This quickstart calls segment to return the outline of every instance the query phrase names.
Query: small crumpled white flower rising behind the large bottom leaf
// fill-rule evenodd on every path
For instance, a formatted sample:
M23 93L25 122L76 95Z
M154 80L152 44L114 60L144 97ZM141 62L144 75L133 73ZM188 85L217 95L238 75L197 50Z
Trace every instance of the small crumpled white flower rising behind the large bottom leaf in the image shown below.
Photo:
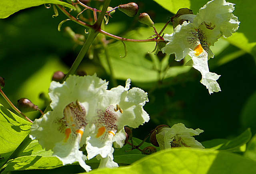
M158 128L156 132L156 140L160 150L176 147L204 149L204 146L192 137L194 135L199 135L202 132L204 131L200 129L189 129L186 128L184 124L178 123L174 124L171 128L166 126Z

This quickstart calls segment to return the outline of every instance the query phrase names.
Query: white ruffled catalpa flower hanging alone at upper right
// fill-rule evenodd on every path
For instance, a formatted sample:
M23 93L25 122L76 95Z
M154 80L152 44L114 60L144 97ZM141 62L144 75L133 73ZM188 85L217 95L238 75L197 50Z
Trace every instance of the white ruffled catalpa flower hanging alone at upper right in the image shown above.
M163 53L175 54L177 61L182 60L187 54L192 58L192 66L201 72L202 84L206 86L209 93L220 91L216 82L220 75L212 73L208 68L208 59L214 54L210 46L221 36L228 38L236 32L239 21L232 14L234 4L225 0L212 0L200 8L196 15L192 11L183 8L172 17L174 33L165 34L164 40L169 41Z

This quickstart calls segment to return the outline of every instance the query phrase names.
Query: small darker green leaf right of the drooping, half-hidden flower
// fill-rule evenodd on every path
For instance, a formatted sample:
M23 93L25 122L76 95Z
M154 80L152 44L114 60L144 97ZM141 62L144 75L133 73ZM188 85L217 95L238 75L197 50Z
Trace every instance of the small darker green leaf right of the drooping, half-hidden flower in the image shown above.
M246 144L252 136L251 129L246 129L242 134L232 140L214 139L202 142L205 148L215 150L236 150Z

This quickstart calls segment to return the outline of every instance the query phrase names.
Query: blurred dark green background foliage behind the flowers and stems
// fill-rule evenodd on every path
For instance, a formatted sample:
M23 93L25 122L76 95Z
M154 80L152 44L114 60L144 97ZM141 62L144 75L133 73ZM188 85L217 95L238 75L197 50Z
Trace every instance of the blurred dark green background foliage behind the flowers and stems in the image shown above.
M110 5L115 7L128 2L130 0L113 0ZM186 7L196 14L206 2L200 0ZM140 9L134 18L116 10L109 24L104 26L106 31L126 38L146 39L154 32L138 22L139 13L150 14L158 32L174 15L153 0L139 0L136 3ZM200 72L184 66L188 57L176 62L174 55L159 53L155 56L148 53L154 50L154 43L126 43L128 55L121 59L120 54L124 56L122 42L111 40L108 44L108 59L118 84L124 86L125 80L131 78L132 87L148 92L149 102L144 109L150 115L150 121L134 130L134 137L144 139L159 124L172 126L179 122L188 128L204 130L195 137L199 142L234 138L248 127L252 135L256 133L256 36L252 31L256 26L248 18L255 5L242 4L242 0L234 0L233 3L237 4L234 15L238 16L241 24L238 34L234 34L229 42L219 39L212 47L215 57L208 64L211 72L221 75L217 82L222 90L212 95L200 84ZM92 2L92 6L101 5L100 2ZM48 92L54 72L68 72L82 48L68 37L64 28L69 26L78 34L84 34L86 28L68 21L58 32L58 24L66 16L59 11L59 16L52 18L53 14L52 8L38 6L0 20L0 76L5 78L4 93L15 105L18 99L25 97L44 110L46 105L44 100L39 99L39 94ZM164 33L170 34L172 31L169 24ZM102 38L102 35L98 35L78 70L84 70L89 75L97 73L100 78L110 81L110 89L115 82L110 76ZM248 38L246 42L245 38ZM2 97L0 103L10 109ZM32 120L40 117L39 112L26 115Z

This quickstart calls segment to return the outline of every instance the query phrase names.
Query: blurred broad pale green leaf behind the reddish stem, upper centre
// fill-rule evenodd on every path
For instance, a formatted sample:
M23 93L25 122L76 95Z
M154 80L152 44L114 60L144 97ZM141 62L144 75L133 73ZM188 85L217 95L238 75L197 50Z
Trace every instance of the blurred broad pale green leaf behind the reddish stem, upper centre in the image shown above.
M159 31L163 26L164 24L155 24L156 29ZM172 26L169 25L165 32L172 33ZM154 32L152 28L141 27L138 30L130 31L124 37L131 39L147 39L153 34ZM159 78L175 77L178 74L182 74L190 70L190 67L187 66L173 66L168 68L168 64L166 64L166 60L168 62L167 56L160 61L153 53L148 53L154 50L156 44L154 42L125 42L125 44L128 50L128 55L123 59L120 58L120 55L124 56L124 46L122 42L118 41L108 47L109 61L112 66L114 77L117 79L126 80L127 78L130 78L132 82L141 83L157 82ZM108 74L110 74L106 55L100 54L99 56L103 67ZM164 75L161 76L159 72Z

